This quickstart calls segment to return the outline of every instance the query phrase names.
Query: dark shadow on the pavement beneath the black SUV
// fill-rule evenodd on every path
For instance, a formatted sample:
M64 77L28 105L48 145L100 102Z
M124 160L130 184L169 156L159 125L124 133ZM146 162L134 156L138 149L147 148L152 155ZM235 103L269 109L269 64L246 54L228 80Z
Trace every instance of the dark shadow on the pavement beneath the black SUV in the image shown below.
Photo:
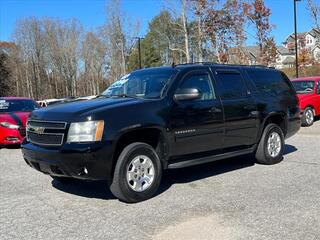
M284 155L297 151L292 145L285 145ZM253 154L219 160L211 163L196 165L181 169L170 169L163 173L162 182L158 191L161 194L172 185L179 183L191 183L200 179L217 176L238 169L248 168L255 165ZM115 199L107 187L105 181L80 181L74 180L68 184L62 184L56 180L52 186L60 191L87 198Z

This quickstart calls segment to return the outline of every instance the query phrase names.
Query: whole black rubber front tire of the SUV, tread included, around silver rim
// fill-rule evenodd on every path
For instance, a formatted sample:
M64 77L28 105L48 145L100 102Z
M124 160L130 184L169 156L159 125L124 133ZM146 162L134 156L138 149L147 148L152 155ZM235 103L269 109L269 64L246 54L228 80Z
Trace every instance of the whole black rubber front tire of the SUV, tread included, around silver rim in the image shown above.
M138 156L146 156L152 161L154 175L150 186L141 192L133 190L129 185L130 181L127 181L127 170L132 166L131 161ZM149 169L147 171L149 171ZM138 174L142 173L139 172ZM113 195L121 201L127 203L141 202L155 195L159 188L161 177L162 167L156 151L148 144L140 142L132 143L123 149L118 158L110 190ZM141 185L143 186L143 184Z

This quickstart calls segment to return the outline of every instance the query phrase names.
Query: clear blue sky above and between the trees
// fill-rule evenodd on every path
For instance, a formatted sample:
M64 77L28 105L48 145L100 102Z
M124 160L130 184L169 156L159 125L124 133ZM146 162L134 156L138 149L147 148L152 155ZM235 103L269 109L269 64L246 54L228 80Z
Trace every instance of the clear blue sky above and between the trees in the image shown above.
M320 0L316 0L320 1ZM77 18L85 30L94 30L103 25L106 19L106 5L109 0L0 0L0 41L12 41L17 20L35 17L54 17L59 19ZM298 31L311 29L312 20L307 11L307 0L297 2ZM271 9L271 23L275 25L273 35L281 44L293 28L293 0L265 0ZM161 0L122 0L121 8L131 20L141 24L140 35L148 29L148 22L163 8ZM253 34L252 30L249 30ZM247 45L255 40L250 37Z

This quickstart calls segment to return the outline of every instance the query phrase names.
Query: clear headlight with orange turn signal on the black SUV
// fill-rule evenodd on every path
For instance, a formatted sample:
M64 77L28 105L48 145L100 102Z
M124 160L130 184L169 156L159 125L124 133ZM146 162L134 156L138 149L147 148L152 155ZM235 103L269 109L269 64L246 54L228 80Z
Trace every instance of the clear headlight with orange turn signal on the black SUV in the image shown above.
M103 121L71 123L67 142L98 142L102 139Z

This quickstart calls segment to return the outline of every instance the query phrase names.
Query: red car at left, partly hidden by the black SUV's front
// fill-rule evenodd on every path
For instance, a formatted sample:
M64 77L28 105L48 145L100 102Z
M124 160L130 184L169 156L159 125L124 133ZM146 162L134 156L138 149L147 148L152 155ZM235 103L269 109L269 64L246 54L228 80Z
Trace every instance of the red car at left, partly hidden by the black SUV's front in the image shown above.
M39 105L29 98L0 98L0 146L18 145L26 135L26 122Z

